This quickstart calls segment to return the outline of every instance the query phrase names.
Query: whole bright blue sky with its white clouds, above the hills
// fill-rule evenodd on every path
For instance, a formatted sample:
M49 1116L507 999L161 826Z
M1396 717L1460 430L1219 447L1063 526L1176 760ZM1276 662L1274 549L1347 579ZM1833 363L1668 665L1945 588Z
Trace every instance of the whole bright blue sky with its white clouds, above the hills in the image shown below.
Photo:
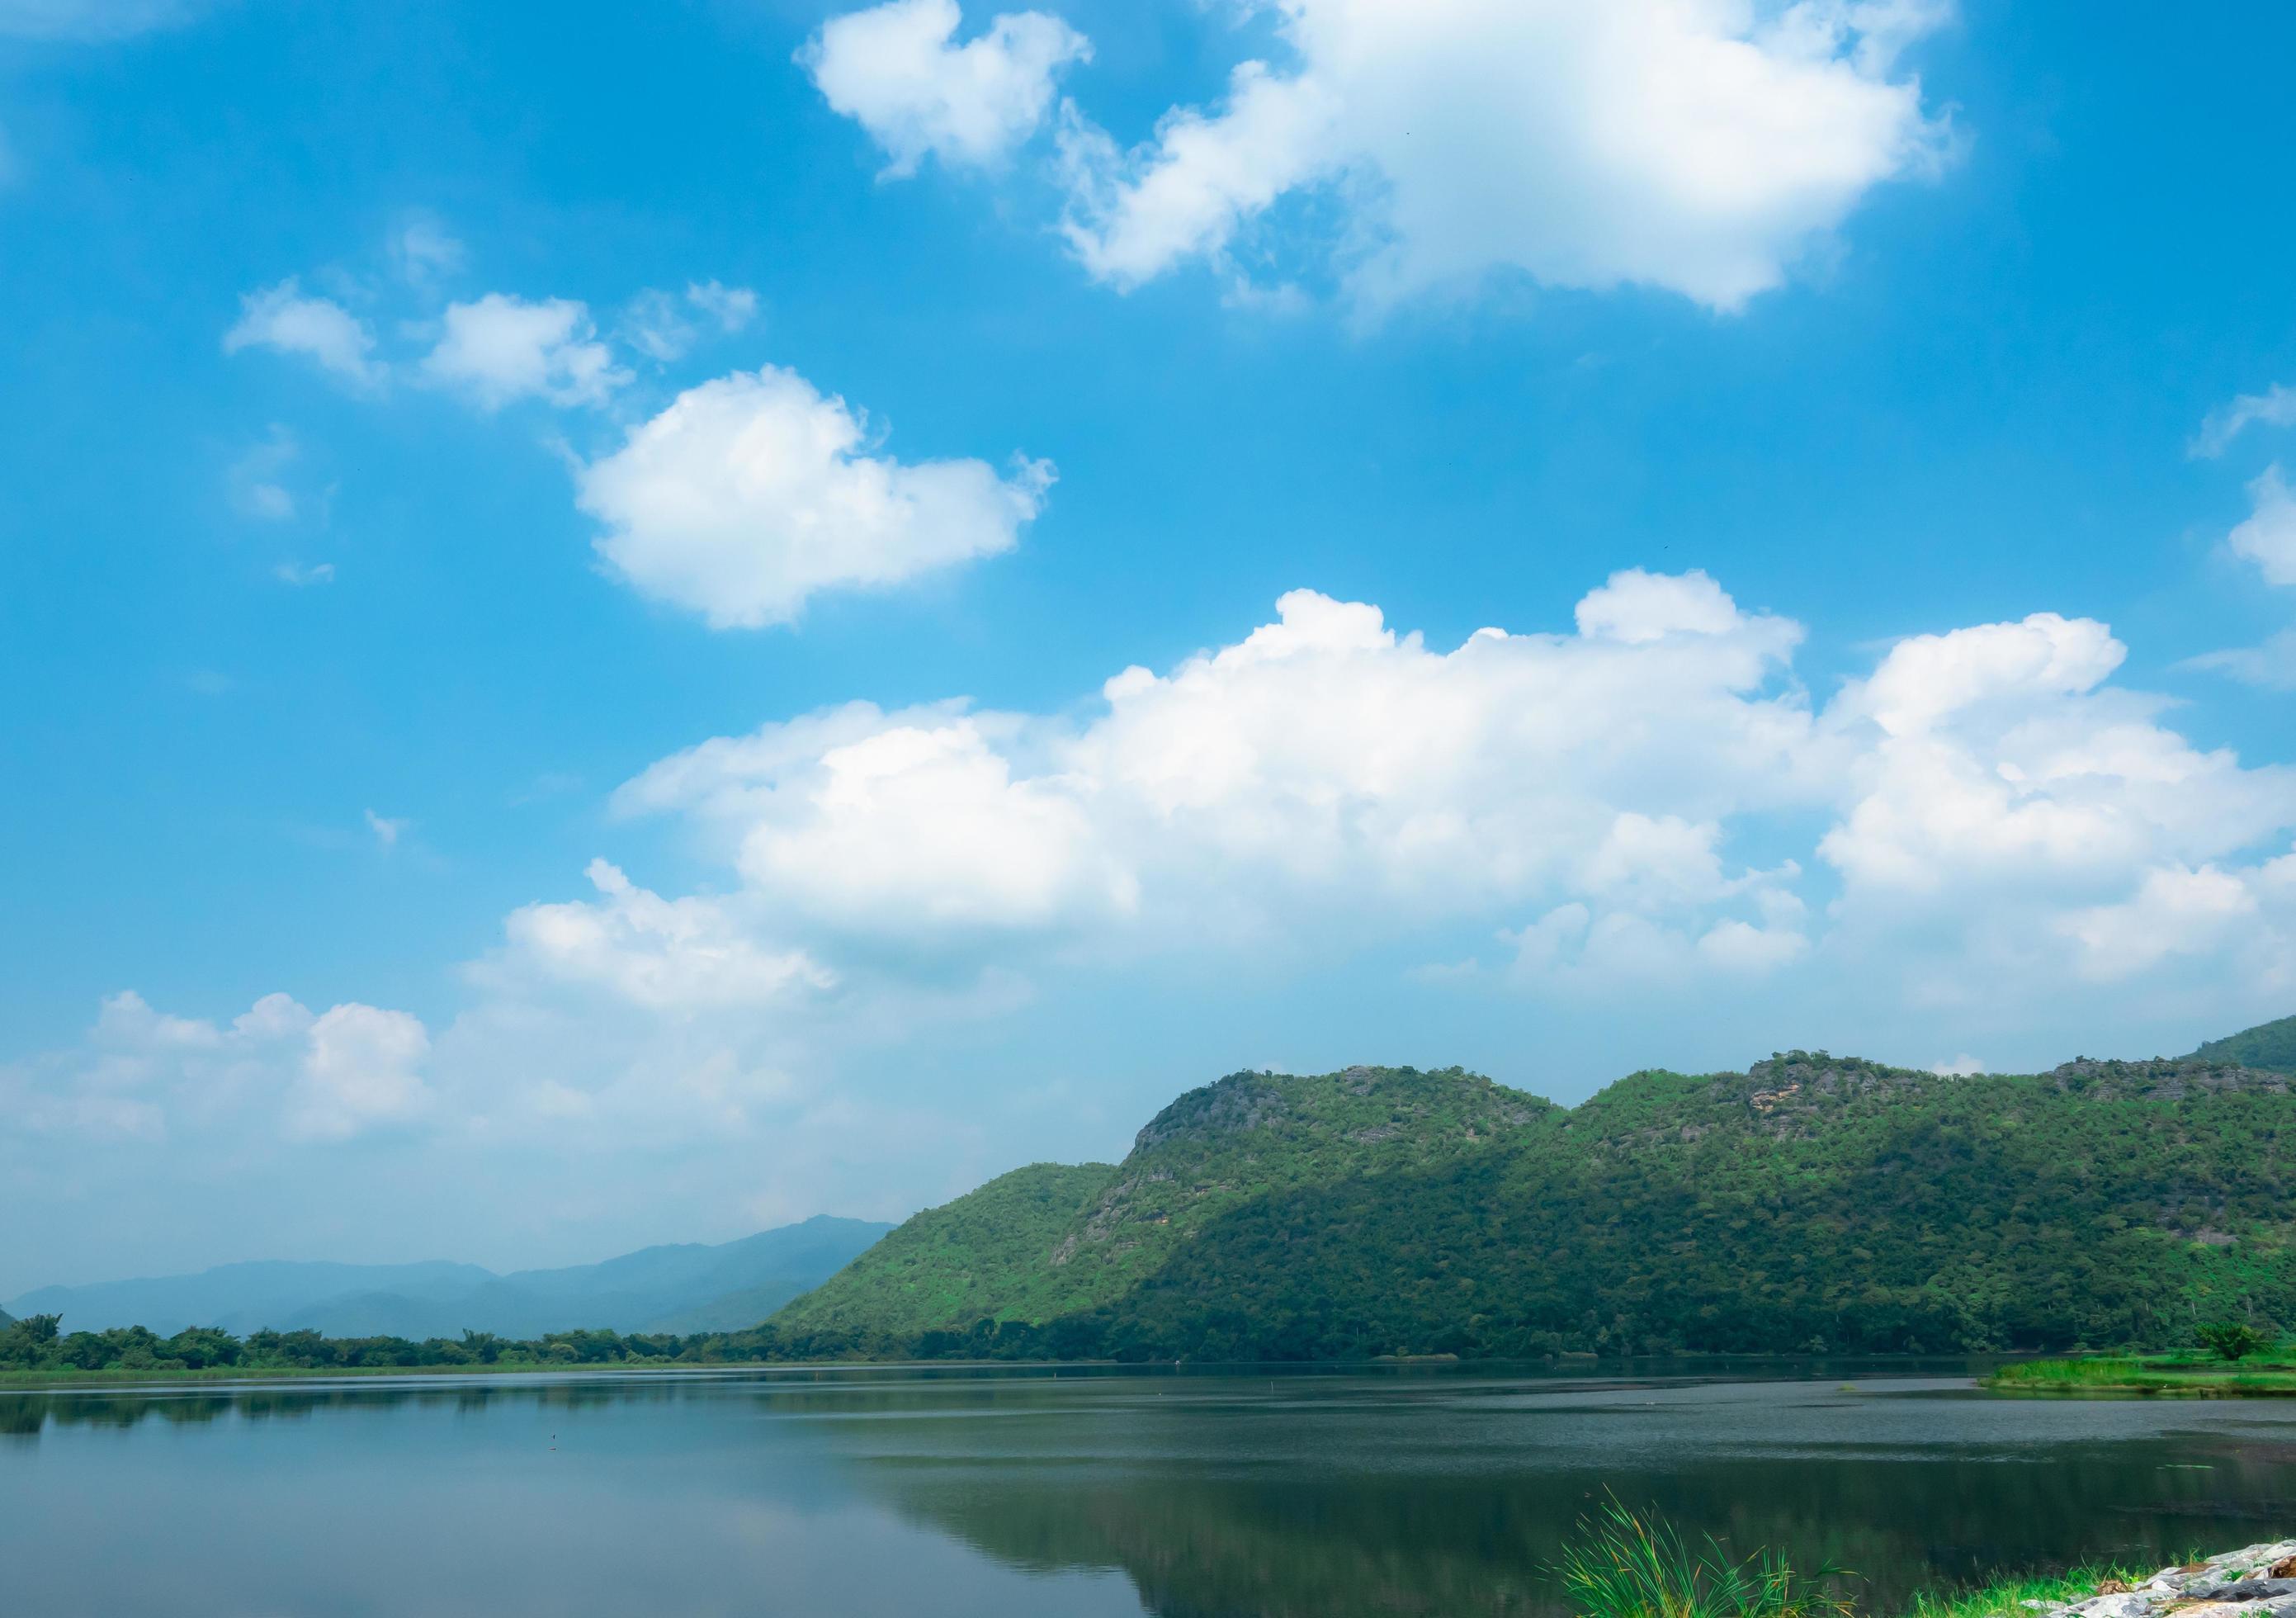
M2296 1010L2291 55L0 0L0 1294Z

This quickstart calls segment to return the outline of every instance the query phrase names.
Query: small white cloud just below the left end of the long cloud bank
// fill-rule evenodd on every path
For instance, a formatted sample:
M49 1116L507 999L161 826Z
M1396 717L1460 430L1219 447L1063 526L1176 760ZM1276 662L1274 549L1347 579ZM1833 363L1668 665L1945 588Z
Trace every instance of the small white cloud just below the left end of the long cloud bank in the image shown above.
M498 971L537 985L606 989L647 1010L755 1008L836 987L804 950L760 948L721 902L664 900L590 861L597 902L528 904L503 923Z

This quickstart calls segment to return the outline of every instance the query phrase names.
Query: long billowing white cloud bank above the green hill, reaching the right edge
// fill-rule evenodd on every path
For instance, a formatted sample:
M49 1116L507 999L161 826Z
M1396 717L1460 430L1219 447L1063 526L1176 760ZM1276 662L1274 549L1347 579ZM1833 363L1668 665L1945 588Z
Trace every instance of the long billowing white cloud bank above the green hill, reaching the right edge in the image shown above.
M1952 973L1998 934L2018 971L2094 975L2108 923L2078 918L2170 863L2257 879L2296 829L2296 773L2163 725L2089 620L1913 636L1825 705L1791 672L1800 627L1704 574L1616 574L1575 620L1435 652L1297 590L1081 714L852 705L673 755L615 803L689 817L831 950L1492 916L1527 980L1773 975L1837 946ZM1821 829L1798 833L1816 870L1793 824ZM1770 861L1733 856L1756 842Z

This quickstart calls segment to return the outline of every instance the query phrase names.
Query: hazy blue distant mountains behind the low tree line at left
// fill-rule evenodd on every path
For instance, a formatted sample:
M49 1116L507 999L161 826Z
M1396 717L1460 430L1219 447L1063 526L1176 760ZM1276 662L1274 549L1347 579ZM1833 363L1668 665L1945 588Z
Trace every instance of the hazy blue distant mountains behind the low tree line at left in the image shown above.
M650 1246L602 1265L521 1269L478 1265L218 1265L195 1276L39 1288L7 1299L7 1315L62 1315L64 1331L273 1327L331 1338L455 1338L494 1331L737 1331L817 1288L891 1226L815 1216L721 1246ZM5 1320L7 1315L0 1315Z

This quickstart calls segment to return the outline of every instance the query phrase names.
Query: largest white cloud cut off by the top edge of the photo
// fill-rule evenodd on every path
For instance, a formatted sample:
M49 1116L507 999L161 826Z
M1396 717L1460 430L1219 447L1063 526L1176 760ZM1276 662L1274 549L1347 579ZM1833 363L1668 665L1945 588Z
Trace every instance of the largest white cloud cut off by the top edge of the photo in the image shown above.
M1290 60L1120 151L1070 115L1068 236L1120 287L1221 255L1313 188L1366 305L1520 271L1736 310L1945 126L1894 53L1945 5L1274 0Z

